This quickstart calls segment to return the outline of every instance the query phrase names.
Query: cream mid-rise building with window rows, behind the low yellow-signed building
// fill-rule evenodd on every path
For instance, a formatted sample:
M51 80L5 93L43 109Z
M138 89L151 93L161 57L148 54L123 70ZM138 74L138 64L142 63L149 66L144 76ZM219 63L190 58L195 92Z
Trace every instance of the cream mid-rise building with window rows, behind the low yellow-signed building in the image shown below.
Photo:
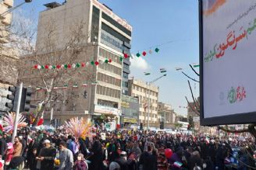
M136 80L134 78L129 79L129 92L128 94L133 97L139 98L140 103L140 123L144 123L144 126L149 124L150 127L158 127L158 92L159 88L155 85L148 85L146 82ZM149 96L148 96L149 94ZM150 106L148 107L148 100ZM149 108L149 110L148 110ZM149 117L148 117L149 111Z

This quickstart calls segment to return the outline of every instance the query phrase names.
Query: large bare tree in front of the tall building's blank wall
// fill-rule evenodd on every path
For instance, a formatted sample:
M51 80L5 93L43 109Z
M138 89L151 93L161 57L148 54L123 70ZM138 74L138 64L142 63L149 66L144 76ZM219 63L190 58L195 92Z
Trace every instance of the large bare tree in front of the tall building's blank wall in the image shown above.
M32 61L34 65L46 66L51 65L57 67L62 64L77 64L93 60L90 58L88 51L94 51L94 43L87 43L89 38L88 33L84 33L86 23L83 21L74 22L65 30L65 36L59 33L58 26L54 20L50 20L44 30L44 40L37 44L36 50L32 54L23 57L24 65L26 61ZM39 37L37 36L37 38ZM62 40L64 39L65 40ZM23 75L21 81L27 82L33 88L44 88L45 95L37 102L37 113L33 125L36 126L40 120L46 106L53 106L58 100L64 101L64 95L56 92L56 86L64 84L73 85L79 84L84 80L87 82L95 82L96 76L93 73L94 67L91 64L86 65L86 69L80 68L55 68L55 69L35 69L34 65L30 65L30 71L33 78L26 78L26 73L23 73L20 68L20 73ZM34 71L33 71L34 70ZM39 109L38 109L39 108Z

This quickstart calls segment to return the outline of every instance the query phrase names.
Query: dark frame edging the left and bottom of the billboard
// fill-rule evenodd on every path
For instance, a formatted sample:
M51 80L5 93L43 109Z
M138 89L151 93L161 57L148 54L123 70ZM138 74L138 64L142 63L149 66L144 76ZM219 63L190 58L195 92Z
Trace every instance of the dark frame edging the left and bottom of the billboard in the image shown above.
M226 124L256 123L256 111L250 113L236 113L228 116L204 118L204 49L203 49L203 0L198 0L199 14L199 64L200 64L200 124L201 126L215 126Z

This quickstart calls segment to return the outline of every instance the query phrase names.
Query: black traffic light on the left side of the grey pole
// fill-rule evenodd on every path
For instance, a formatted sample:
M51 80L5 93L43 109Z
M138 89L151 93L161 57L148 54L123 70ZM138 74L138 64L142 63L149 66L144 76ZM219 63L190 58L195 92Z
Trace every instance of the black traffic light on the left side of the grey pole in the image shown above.
M9 86L8 90L12 92L11 95L7 95L7 99L11 100L11 102L6 102L5 106L10 109L9 111L16 112L20 88Z

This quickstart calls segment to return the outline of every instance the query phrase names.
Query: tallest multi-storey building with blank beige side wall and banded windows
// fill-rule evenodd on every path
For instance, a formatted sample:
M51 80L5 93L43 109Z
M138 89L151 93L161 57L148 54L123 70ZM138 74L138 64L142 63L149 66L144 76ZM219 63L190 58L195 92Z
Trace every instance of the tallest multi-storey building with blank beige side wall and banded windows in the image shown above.
M56 51L63 50L67 41L70 40L69 27L83 23L83 32L88 37L84 39L84 43L77 44L82 48L82 52L76 61L86 63L94 60L100 63L98 66L91 67L91 74L97 83L88 82L87 76L73 76L76 87L69 85L69 88L62 90L65 91L62 92L65 93L64 96L71 95L73 97L64 99L64 102L59 103L58 108L53 108L53 117L60 119L61 123L73 116L85 116L96 123L105 120L119 123L122 93L126 94L128 91L126 83L128 75L126 74L130 73L129 59L120 60L119 57L123 54L130 55L132 26L112 12L107 5L101 4L97 0L72 0L63 4L52 2L45 6L47 9L40 13L37 28L37 52L42 55L52 52L45 47L47 30L52 23L55 25L56 31L53 35ZM112 62L101 64L105 63L106 58L111 59ZM45 61L47 60L45 59ZM26 63L36 64L31 61L30 57L23 58L23 64ZM44 62L44 64L48 63ZM33 79L31 76L36 76L31 71L22 75L23 82L26 82L27 85L30 85L30 81ZM84 84L87 85L83 86ZM86 99L84 93L87 94ZM39 99L35 99L35 101L37 100ZM49 113L45 112L44 119L47 120L49 117ZM105 120L102 120L102 117Z

